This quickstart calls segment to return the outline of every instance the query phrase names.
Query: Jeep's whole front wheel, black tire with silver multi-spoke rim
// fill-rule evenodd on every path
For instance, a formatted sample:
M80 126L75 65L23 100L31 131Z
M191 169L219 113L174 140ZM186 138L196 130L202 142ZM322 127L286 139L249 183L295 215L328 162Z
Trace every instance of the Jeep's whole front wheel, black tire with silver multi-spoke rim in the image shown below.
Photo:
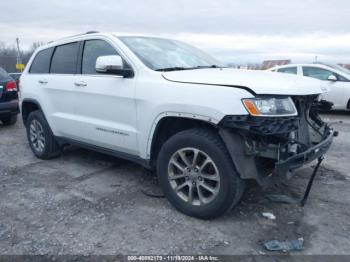
M206 129L190 129L171 137L159 153L157 172L169 202L197 218L223 215L244 191L244 182L220 137Z

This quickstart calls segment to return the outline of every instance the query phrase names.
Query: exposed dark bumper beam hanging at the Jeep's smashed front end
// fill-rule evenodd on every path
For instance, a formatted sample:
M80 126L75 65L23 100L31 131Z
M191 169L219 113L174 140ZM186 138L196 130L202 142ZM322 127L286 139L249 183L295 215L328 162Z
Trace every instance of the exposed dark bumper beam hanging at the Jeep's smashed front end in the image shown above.
M326 127L324 139L317 145L310 147L304 152L296 154L275 164L274 175L283 176L287 172L302 167L303 165L314 161L323 156L330 148L334 137L333 129Z

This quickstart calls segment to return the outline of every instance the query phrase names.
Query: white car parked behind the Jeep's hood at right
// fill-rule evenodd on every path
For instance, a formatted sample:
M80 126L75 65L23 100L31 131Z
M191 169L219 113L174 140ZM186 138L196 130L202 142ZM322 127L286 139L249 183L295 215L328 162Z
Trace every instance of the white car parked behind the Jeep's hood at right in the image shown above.
M336 64L289 64L268 69L272 72L312 77L327 83L329 91L322 99L332 102L337 110L350 109L350 70Z

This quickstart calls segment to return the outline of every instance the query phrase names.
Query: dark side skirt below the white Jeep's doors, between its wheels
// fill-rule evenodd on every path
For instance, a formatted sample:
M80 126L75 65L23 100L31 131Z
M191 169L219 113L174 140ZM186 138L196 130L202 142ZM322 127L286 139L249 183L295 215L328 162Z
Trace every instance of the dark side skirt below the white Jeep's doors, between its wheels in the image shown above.
M88 150L92 150L92 151L96 151L105 155L109 155L109 156L113 156L116 158L121 158L121 159L125 159L131 162L134 162L136 164L139 164L141 166L143 166L146 169L151 169L151 161L147 160L147 159L143 159L140 158L138 156L135 155L131 155L128 153L124 153L124 152L120 152L120 151L115 151L109 148L104 148L104 147L100 147L100 146L96 146L96 145L92 145L92 144L88 144L88 143L84 143L81 141L77 141L74 139L70 139L70 138L66 138L66 137L55 137L57 143L60 146L64 146L64 145L74 145L74 146L78 146L81 148L85 148Z

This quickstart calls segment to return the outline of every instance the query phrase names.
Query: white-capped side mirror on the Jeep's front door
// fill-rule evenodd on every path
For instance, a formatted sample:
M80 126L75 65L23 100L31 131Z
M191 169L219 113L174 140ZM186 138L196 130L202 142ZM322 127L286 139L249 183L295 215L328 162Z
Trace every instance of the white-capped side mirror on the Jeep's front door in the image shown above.
M120 75L123 77L132 77L133 71L125 68L123 59L119 55L99 56L96 59L95 70L98 73Z

